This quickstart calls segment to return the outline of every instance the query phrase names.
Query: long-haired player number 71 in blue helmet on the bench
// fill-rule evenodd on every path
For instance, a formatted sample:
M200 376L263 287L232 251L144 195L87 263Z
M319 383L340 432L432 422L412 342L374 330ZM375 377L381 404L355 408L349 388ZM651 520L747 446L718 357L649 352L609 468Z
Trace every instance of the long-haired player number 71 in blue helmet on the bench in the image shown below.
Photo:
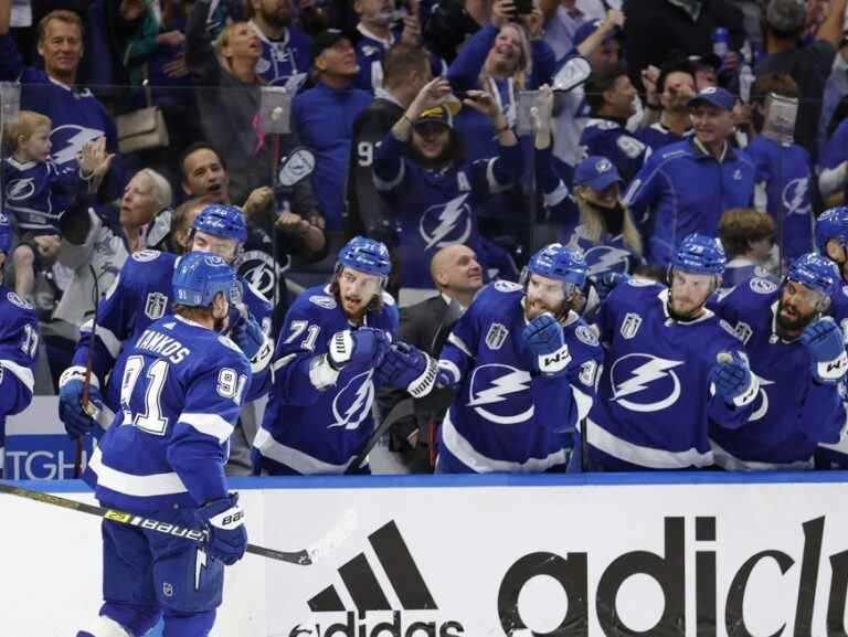
M382 243L354 237L339 251L330 284L305 290L288 310L254 440L257 475L346 473L373 433L375 384L417 396L435 385L435 361L390 347L399 322L383 291L391 268Z

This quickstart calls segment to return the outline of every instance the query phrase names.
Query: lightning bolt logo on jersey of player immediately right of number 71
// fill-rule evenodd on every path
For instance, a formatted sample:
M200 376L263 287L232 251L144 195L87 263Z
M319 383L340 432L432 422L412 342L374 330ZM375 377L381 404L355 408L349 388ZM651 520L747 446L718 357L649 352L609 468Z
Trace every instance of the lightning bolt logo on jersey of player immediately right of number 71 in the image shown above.
M499 425L515 425L533 417L530 374L511 365L489 363L471 373L467 406Z

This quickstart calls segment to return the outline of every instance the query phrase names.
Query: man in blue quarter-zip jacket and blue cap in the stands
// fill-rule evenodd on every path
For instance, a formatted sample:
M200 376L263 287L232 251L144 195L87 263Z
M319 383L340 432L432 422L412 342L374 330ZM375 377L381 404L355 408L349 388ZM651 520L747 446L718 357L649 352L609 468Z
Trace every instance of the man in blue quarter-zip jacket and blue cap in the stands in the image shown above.
M754 162L729 142L735 103L719 87L692 97L695 135L653 153L630 184L625 204L643 226L651 263L667 265L693 232L716 236L722 212L753 202Z

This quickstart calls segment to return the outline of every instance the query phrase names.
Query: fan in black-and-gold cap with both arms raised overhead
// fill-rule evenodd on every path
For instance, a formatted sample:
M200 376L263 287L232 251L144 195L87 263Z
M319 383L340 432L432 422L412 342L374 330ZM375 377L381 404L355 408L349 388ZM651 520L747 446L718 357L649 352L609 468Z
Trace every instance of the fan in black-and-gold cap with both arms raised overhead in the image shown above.
M497 130L498 153L468 161L465 138L442 102L451 85L436 78L424 85L374 152L374 184L400 225L401 305L433 296L430 259L439 248L463 243L486 269L506 270L495 246L485 247L477 227L479 205L513 184L521 174L518 139L495 98L469 91L463 104ZM484 251L491 254L483 256ZM508 274L508 273L507 273Z

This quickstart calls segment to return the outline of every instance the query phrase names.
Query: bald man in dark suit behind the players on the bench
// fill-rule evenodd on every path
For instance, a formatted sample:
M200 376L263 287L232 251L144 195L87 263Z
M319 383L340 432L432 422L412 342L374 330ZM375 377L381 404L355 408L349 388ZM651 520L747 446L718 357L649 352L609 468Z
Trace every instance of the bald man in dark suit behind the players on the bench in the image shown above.
M451 327L483 287L483 268L471 248L448 245L433 255L430 276L438 296L401 308L398 338L437 358ZM409 394L401 390L381 391L379 402L383 417L407 397ZM428 442L434 439L430 431L434 415L416 401L415 414L390 429L391 448L401 453L412 473L432 473Z

